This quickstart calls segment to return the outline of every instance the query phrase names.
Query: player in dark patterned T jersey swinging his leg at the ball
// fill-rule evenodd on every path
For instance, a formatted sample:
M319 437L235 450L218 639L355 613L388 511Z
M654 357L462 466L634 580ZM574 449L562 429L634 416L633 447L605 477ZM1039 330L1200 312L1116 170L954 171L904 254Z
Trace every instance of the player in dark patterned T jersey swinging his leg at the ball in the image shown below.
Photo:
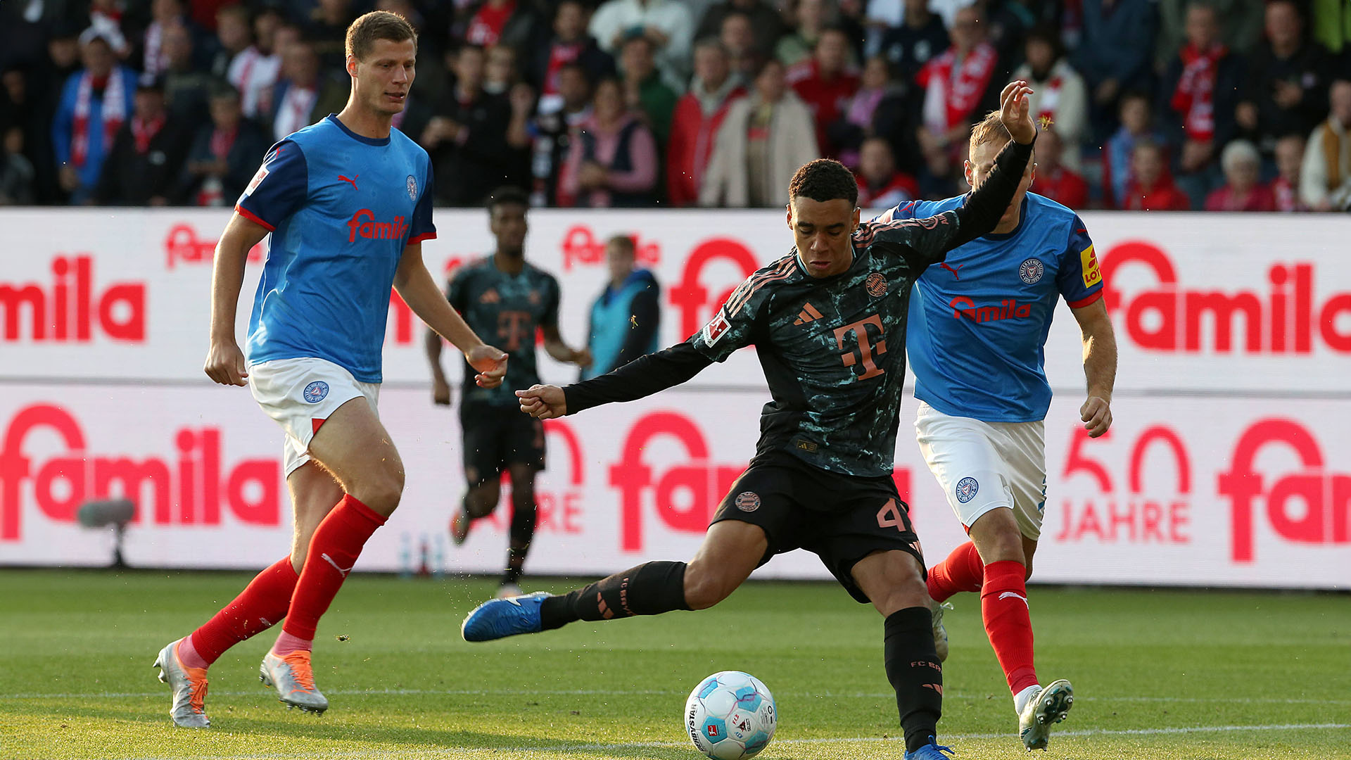
M934 649L924 557L890 477L905 380L911 285L946 253L994 229L1032 156L1027 82L1004 88L1012 142L966 204L928 219L859 224L858 185L816 160L793 176L788 224L796 249L755 272L686 342L566 388L517 391L521 411L551 419L627 402L693 377L755 345L773 400L750 468L686 563L644 563L562 596L481 604L469 641L536 633L573 621L701 610L725 599L770 557L808 549L885 618L886 676L905 757L942 760L943 669ZM509 371L508 371L509 372Z

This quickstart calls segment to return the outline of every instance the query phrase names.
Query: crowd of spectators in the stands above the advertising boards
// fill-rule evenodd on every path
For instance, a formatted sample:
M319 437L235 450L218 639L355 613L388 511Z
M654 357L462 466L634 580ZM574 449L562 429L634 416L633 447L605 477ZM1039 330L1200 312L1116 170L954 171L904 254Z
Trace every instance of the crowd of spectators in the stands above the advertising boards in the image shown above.
M442 206L774 207L817 157L944 197L1025 78L1067 206L1351 210L1346 0L5 0L0 204L232 204L370 9L419 31Z

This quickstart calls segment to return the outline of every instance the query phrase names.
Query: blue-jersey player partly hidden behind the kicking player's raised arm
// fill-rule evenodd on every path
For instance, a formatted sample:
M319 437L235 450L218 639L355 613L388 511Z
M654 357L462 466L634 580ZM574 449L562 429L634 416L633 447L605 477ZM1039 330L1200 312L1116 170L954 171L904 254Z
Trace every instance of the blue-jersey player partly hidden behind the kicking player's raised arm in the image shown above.
M1009 139L998 114L975 126L966 162L973 188ZM1038 682L1025 587L1046 506L1046 337L1063 298L1084 335L1088 399L1079 414L1092 437L1112 425L1116 337L1093 241L1074 211L1028 192L1034 170L1029 164L993 233L919 277L907 339L920 450L971 538L929 568L929 595L942 603L959 591L981 594L1023 744L1046 749L1051 725L1074 702L1067 680ZM880 220L942 214L970 197L902 203ZM935 606L934 633L946 650L942 614Z

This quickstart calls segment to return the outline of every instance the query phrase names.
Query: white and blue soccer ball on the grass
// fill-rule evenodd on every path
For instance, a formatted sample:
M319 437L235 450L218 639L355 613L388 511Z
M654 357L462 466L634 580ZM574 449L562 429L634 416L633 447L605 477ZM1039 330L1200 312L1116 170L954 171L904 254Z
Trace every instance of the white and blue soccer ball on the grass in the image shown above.
M759 755L774 738L778 710L761 680L723 671L701 680L685 702L685 729L694 746L713 760Z

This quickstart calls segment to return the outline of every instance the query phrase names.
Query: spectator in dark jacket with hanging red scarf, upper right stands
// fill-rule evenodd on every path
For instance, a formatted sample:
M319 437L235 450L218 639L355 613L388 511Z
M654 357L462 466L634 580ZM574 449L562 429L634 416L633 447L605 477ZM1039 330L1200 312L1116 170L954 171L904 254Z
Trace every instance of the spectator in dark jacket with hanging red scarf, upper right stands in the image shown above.
M1201 206L1215 183L1219 146L1233 138L1233 110L1242 78L1239 60L1220 42L1215 8L1193 0L1186 15L1186 45L1163 74L1159 108L1169 124L1178 187Z

